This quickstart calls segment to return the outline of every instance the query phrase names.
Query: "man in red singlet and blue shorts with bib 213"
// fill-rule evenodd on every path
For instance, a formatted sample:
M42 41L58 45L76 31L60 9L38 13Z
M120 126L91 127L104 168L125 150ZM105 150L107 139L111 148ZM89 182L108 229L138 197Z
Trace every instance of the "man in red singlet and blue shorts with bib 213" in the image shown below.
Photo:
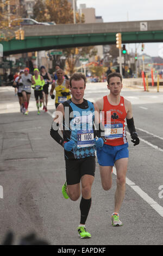
M130 101L120 95L122 76L119 73L108 75L108 89L110 94L98 100L97 106L102 111L102 123L105 127L103 148L97 150L100 166L101 181L104 190L109 190L112 184L111 171L115 164L117 172L117 188L115 193L115 209L112 214L112 225L123 225L119 218L119 211L126 191L126 173L128 165L128 142L125 130L125 119L134 146L139 144ZM110 114L110 119L108 115Z

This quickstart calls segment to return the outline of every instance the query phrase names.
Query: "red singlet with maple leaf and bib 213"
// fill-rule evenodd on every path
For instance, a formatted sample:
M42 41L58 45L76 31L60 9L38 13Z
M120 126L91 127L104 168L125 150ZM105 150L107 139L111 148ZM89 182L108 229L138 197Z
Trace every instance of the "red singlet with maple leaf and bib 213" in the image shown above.
M124 107L124 98L121 96L120 103L116 106L111 105L108 101L107 95L103 97L104 106L103 112L104 115L102 118L102 123L105 127L105 144L111 146L118 146L127 143L126 130L125 130L125 118L126 118L126 109ZM111 112L110 118L107 120L106 114ZM108 115L107 115L108 117Z

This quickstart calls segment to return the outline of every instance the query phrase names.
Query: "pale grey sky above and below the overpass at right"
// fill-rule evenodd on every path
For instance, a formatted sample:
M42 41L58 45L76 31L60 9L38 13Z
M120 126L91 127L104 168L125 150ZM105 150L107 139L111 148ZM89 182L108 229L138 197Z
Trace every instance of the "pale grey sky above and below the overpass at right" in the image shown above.
M102 16L104 22L117 21L147 21L163 19L162 0L77 0L77 6L86 4L87 8L96 9L96 16ZM146 43L143 53L151 56L159 55L161 43ZM126 45L128 48L128 45ZM141 52L141 44L136 44L138 53ZM130 44L130 49L135 51L135 44Z

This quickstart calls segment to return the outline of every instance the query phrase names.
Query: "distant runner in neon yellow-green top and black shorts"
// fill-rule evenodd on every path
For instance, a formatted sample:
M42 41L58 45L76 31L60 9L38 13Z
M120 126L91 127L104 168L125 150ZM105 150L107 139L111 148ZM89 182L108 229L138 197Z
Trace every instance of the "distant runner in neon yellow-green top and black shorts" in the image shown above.
M45 81L43 80L43 77L39 75L39 69L34 69L34 76L33 76L33 86L34 89L34 95L36 99L36 106L37 106L37 114L40 114L39 107L42 107L43 102L43 86L45 84ZM40 105L39 105L39 97L40 97Z

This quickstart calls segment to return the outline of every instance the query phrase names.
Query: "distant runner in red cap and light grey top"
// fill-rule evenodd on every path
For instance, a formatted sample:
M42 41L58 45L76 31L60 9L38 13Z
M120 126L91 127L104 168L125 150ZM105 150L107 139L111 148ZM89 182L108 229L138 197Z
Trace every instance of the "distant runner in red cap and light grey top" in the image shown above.
M24 105L24 114L28 115L28 105L29 105L29 99L31 94L31 85L32 83L35 83L33 80L33 77L31 74L29 74L29 69L24 69L24 74L22 74L17 82L20 82L22 80L22 95L23 95L23 105Z

